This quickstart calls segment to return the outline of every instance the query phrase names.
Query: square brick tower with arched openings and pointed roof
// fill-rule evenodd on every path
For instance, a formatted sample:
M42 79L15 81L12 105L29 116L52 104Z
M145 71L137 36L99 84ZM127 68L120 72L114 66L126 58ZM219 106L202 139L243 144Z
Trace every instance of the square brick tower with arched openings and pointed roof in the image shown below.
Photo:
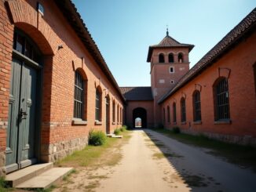
M161 120L158 100L181 79L189 70L188 53L194 45L177 42L169 36L168 29L166 37L157 45L148 48L147 62L151 63L151 87L154 98L154 122L158 126Z

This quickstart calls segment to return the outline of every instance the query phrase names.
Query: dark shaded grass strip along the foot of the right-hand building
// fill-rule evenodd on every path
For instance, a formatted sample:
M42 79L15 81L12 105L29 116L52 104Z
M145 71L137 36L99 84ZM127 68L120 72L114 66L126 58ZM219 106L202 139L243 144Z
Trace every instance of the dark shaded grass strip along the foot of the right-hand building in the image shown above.
M256 147L241 146L238 144L225 143L207 136L192 136L185 133L175 134L168 129L152 129L163 133L170 138L177 139L182 143L192 144L197 147L205 147L213 151L209 152L218 157L223 157L230 163L240 165L243 168L252 168L256 172Z

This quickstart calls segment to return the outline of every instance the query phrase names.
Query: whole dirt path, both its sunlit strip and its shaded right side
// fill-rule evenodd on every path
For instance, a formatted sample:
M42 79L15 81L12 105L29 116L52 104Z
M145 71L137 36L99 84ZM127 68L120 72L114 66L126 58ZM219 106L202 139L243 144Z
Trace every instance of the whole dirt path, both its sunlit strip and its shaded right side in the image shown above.
M209 150L148 129L130 134L128 143L108 153L108 158L122 155L118 165L77 168L53 191L256 191L254 172L207 154Z

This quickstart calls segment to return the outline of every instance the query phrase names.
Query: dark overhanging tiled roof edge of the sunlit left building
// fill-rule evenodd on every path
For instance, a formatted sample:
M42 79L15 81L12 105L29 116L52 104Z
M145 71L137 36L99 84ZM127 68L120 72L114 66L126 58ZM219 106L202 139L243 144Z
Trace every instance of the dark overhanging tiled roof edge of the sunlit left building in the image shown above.
M81 39L83 45L85 45L86 49L89 51L91 56L93 56L93 59L95 60L97 65L101 68L101 70L108 78L109 82L112 83L112 85L119 93L119 96L124 101L124 97L121 93L121 90L119 89L119 85L117 84L117 82L115 82L115 78L112 75L112 72L109 70L107 63L105 62L100 50L98 49L90 32L88 31L86 24L83 23L83 20L77 9L75 8L74 3L72 3L71 0L54 0L54 2L57 4L60 11L68 20L68 23L71 25L75 33Z

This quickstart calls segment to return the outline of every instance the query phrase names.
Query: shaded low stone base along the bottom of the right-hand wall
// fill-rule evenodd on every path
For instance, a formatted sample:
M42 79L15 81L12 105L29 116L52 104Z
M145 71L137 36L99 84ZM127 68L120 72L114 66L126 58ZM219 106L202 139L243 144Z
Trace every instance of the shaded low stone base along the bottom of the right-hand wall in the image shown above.
M218 133L212 133L212 132L194 132L192 130L181 130L181 132L185 132L191 135L203 135L207 136L211 139L216 139L223 141L225 143L235 143L240 145L249 145L256 147L256 137L253 136L233 136L233 135L223 135Z

